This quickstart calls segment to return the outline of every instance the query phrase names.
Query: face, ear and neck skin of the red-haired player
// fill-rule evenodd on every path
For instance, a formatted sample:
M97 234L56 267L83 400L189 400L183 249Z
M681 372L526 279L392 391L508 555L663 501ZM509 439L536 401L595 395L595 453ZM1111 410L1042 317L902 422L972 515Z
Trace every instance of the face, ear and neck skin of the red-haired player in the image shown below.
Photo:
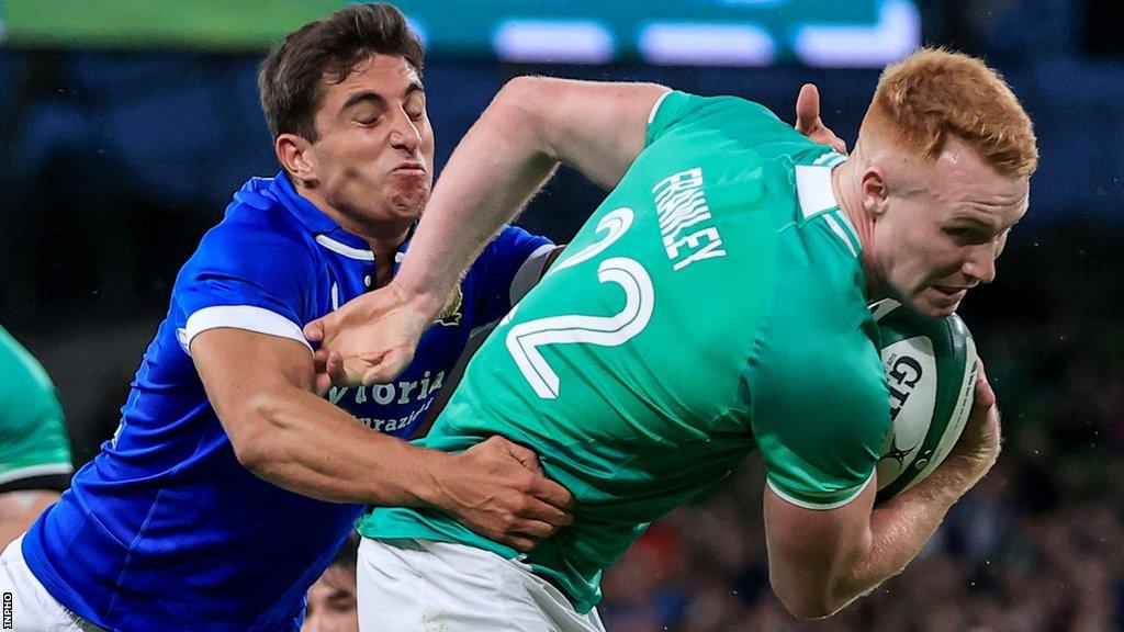
M999 173L957 137L930 161L877 133L860 136L833 180L862 240L870 298L889 296L932 317L995 280L1030 195L1026 178Z

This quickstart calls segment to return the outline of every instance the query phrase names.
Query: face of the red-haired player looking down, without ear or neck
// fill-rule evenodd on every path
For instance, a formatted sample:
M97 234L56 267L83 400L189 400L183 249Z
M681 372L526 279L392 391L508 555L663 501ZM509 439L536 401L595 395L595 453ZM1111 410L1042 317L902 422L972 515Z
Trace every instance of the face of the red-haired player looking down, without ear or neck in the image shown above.
M967 143L951 138L935 163L908 165L887 180L873 252L887 292L937 317L995 279L1010 228L1026 213L1026 178L1008 178ZM890 170L892 172L892 169Z

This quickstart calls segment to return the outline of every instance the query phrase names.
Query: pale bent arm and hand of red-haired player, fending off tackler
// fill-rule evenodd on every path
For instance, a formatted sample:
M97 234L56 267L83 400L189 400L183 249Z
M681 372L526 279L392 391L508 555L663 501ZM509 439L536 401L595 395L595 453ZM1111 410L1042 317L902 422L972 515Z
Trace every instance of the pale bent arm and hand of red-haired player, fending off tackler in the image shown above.
M327 374L368 385L393 379L463 271L558 165L616 184L643 150L649 114L668 91L649 83L510 81L453 152L393 281L306 327L309 340L338 354L321 353Z

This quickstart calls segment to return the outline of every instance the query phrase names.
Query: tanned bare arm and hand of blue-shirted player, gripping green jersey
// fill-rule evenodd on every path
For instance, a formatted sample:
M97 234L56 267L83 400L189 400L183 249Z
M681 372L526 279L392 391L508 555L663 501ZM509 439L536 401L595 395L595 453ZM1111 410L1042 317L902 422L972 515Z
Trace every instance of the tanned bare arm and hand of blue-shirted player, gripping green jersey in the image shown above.
M311 354L297 341L216 328L196 336L191 355L238 461L279 487L329 502L436 507L524 550L572 520L569 493L519 445L495 437L460 454L424 450L317 397Z

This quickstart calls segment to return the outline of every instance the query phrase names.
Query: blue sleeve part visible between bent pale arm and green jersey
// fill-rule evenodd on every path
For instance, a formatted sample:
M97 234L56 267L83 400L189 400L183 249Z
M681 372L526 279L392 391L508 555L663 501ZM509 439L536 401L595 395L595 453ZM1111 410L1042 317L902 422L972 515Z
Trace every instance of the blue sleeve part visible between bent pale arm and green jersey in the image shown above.
M473 322L479 326L502 318L511 309L513 296L518 300L538 281L541 268L535 267L552 250L554 243L546 237L505 226L472 264Z

